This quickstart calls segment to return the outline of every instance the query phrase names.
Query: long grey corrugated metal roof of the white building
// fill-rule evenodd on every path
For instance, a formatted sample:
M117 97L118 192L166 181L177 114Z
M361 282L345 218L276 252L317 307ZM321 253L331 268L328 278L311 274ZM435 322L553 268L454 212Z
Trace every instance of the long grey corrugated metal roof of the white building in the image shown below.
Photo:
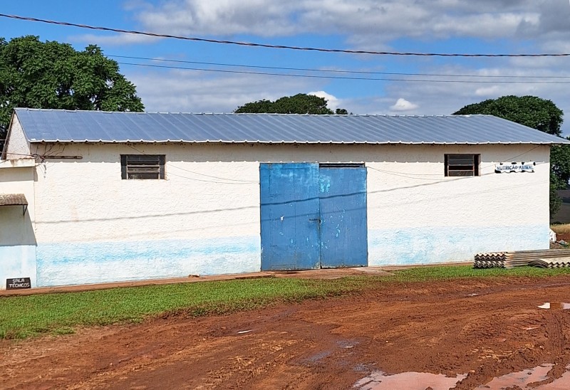
M16 108L30 142L559 144L491 115L282 115Z

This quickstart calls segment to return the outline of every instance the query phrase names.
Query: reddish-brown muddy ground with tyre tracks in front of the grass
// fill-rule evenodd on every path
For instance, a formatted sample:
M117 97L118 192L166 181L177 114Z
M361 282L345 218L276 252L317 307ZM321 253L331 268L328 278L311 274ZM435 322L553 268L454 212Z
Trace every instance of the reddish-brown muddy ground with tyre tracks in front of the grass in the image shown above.
M544 302L551 308L538 307ZM570 364L563 302L570 302L570 277L452 280L3 340L0 387L350 389L374 371L417 371L467 374L457 389L474 389L552 364L548 383Z

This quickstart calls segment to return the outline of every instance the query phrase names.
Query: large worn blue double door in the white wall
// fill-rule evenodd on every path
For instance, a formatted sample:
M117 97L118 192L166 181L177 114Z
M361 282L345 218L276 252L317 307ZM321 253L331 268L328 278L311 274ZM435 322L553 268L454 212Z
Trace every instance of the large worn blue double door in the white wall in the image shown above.
M261 270L368 265L363 164L261 164Z

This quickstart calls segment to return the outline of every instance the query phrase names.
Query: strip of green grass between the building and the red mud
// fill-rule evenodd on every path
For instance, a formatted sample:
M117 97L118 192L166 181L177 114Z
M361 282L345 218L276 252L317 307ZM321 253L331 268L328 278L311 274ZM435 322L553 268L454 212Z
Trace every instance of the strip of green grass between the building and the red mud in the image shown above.
M0 297L0 338L70 334L79 326L141 322L158 315L224 314L279 302L347 295L393 283L497 276L549 277L570 274L570 269L474 270L464 265L408 268L393 274L336 280L259 278Z

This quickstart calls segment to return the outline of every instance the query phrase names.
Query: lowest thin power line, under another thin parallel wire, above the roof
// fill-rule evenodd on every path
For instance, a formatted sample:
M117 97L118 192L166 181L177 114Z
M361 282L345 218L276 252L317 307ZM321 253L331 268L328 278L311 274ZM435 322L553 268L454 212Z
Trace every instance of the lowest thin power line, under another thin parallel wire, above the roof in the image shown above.
M410 81L422 83L509 83L509 84L569 84L570 81L535 81L535 80L430 80L430 79L414 79L414 78L367 78L367 77L351 77L351 76L327 76L327 75L299 75L291 73L270 73L270 72L249 72L247 70L226 70L226 69L208 69L208 68L188 68L184 66L171 66L171 65L155 65L149 63L122 63L120 65L132 66L145 66L148 68L166 68L166 69L179 69L179 70L201 70L204 72L217 72L217 73L237 73L245 75L271 75L271 76L285 76L285 77L300 77L300 78L328 78L335 80L365 80L365 81Z

